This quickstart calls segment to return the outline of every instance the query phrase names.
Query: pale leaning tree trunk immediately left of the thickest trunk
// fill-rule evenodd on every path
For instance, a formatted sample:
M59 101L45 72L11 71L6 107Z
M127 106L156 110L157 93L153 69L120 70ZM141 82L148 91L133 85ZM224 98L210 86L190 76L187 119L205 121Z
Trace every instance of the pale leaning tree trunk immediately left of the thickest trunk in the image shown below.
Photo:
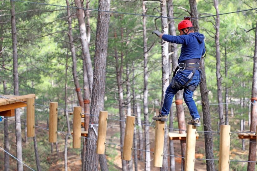
M88 40L87 40L87 32L86 32L86 23L83 17L84 11L82 8L82 4L80 0L74 0L76 6L78 7L76 9L77 11L77 18L79 23L79 31L80 31L80 40L82 45L82 57L84 58L86 62L86 69L87 69L87 79L89 83L89 90L90 94L92 94L92 85L93 85L93 68L92 68L92 62L90 58L89 53L89 47L88 47Z

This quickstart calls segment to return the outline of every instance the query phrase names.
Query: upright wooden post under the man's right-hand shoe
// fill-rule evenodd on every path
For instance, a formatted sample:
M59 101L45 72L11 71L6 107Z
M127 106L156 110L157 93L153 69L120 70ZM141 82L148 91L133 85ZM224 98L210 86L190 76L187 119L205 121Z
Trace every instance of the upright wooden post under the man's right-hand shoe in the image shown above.
M195 151L196 151L196 127L194 125L187 125L185 171L194 171Z

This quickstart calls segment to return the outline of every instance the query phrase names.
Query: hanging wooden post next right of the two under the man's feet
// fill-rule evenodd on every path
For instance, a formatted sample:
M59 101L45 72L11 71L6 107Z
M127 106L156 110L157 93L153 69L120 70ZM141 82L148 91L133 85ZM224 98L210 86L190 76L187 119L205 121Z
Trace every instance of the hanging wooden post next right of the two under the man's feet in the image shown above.
M230 125L220 126L219 171L229 171Z

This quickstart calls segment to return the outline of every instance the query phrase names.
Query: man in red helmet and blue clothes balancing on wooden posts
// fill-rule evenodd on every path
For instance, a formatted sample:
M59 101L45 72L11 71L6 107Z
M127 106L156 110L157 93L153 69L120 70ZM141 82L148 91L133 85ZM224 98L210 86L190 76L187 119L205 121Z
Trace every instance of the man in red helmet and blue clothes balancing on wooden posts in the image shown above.
M185 17L178 24L179 36L163 34L159 30L152 32L152 34L156 34L167 42L182 44L178 67L174 71L171 83L165 91L162 109L158 116L153 117L153 120L168 121L173 97L179 90L184 89L183 98L192 117L192 120L188 121L187 124L200 127L200 115L193 100L193 93L201 81L200 60L206 49L204 46L204 35L194 32L190 19L191 17Z

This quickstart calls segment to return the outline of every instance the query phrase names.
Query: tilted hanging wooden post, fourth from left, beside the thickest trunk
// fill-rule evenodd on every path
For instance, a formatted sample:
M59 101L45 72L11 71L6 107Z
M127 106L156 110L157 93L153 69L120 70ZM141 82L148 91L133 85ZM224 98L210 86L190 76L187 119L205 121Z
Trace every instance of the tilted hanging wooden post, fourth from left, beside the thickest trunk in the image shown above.
M108 111L100 111L97 133L97 154L104 154Z

